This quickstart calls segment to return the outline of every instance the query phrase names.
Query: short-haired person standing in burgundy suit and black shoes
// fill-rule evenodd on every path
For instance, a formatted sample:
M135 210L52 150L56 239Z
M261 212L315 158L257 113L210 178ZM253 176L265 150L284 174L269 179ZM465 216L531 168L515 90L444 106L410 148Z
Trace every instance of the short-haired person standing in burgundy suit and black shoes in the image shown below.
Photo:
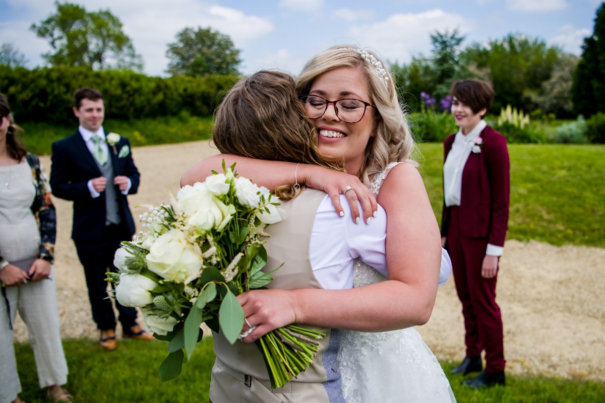
M466 357L452 373L485 370L463 384L505 384L502 316L495 302L498 261L508 227L509 160L506 139L485 116L494 91L480 80L458 80L451 113L460 130L443 144L442 244L450 253L462 302Z

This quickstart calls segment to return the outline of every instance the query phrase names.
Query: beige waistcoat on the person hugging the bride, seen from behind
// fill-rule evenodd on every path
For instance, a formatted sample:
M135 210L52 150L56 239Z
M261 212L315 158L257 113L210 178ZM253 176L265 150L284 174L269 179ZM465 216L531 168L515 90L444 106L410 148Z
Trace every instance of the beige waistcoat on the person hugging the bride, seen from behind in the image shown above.
M268 261L264 271L284 265L275 273L267 288L322 288L313 274L309 243L315 213L325 193L305 189L292 201L282 202L286 220L267 228ZM235 344L214 333L217 360L212 369L210 399L212 403L231 402L344 402L338 374L332 364L338 353L338 330L313 327L325 332L311 366L284 387L271 390L269 374L258 347ZM325 366L325 367L324 367Z

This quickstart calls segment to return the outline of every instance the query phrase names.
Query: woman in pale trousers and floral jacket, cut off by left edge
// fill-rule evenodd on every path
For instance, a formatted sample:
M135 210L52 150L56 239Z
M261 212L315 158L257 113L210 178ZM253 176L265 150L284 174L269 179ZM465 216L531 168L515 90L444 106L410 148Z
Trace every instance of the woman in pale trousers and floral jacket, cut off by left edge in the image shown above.
M38 156L25 152L0 95L0 402L20 402L13 347L16 312L27 324L38 382L51 401L70 402L51 264L56 213Z

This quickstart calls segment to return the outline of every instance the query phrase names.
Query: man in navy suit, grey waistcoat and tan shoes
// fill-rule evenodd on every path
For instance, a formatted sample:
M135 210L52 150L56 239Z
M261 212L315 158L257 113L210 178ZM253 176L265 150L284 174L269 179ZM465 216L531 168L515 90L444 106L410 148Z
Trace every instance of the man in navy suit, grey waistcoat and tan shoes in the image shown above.
M139 171L132 161L127 138L105 134L103 95L94 88L74 93L76 133L53 143L50 184L53 195L73 201L71 237L76 244L88 286L93 320L100 330L99 344L114 350L116 317L107 298L108 269L116 271L114 254L122 240L132 239L134 221L126 195L139 189ZM123 335L150 340L151 335L136 323L134 308L116 308Z

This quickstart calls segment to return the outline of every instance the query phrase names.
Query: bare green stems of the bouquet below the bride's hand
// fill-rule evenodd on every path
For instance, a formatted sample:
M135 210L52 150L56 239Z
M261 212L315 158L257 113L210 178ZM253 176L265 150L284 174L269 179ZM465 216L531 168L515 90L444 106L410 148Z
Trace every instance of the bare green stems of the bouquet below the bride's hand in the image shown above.
M256 341L261 350L272 388L283 387L306 370L317 353L319 342L325 337L318 330L289 324L275 329Z

